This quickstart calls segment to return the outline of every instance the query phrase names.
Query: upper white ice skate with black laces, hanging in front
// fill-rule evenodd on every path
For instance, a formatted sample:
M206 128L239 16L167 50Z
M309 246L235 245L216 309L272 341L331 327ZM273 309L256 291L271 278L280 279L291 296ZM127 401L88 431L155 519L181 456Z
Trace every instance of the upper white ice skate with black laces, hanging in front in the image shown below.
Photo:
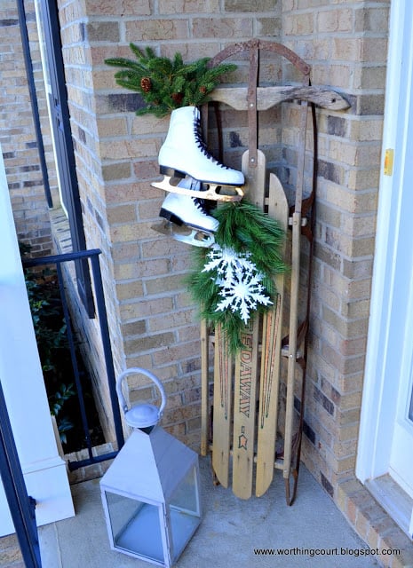
M159 152L158 162L160 172L165 177L163 181L152 185L159 189L190 195L186 187L173 185L171 181L173 177L189 176L203 183L202 194L196 197L216 201L242 199L243 174L228 168L209 154L201 136L200 113L196 106L183 106L172 111L170 128Z

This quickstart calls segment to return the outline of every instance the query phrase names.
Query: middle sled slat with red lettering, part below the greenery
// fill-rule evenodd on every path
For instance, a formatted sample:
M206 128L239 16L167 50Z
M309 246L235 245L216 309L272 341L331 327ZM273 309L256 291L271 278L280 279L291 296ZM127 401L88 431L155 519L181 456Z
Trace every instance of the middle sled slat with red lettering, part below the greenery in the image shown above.
M245 345L235 359L234 370L234 438L233 493L240 499L252 495L256 390L258 377L258 320L244 327Z

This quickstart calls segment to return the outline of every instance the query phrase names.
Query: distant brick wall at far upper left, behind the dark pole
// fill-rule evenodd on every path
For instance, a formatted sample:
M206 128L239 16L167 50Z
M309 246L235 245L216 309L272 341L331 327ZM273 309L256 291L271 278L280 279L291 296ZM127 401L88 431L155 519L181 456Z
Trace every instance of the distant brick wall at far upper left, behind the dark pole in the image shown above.
M25 7L49 181L52 192L55 193L56 173L53 167L33 1L28 0ZM20 241L31 245L33 256L44 256L52 251L51 229L30 106L19 14L14 0L4 0L0 5L0 29L0 84L2 85L0 143L4 154L13 215Z

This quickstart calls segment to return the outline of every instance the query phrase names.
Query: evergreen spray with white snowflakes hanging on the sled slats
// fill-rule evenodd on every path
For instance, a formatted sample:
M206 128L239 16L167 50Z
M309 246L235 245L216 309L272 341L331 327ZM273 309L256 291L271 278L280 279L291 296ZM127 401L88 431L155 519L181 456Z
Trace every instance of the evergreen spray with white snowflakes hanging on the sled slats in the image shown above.
M274 276L288 271L280 253L285 232L277 221L245 199L226 203L215 209L213 214L219 222L215 245L211 249L197 248L194 251L194 270L187 278L187 285L200 307L200 316L213 327L221 326L228 351L234 354L242 349L241 332L246 318L254 318L255 314L264 313L271 307L276 296ZM225 256L225 251L229 252L229 259L234 253L238 256L234 262L238 267L234 271L247 274L247 279L250 274L252 280L259 276L260 284L255 286L256 293L251 297L258 296L260 300L250 308L250 314L242 316L234 305L227 309L219 308L225 298L222 267L229 261L223 260L219 264L219 260L214 261L214 258L222 253ZM229 300L226 302L224 299L224 304L230 304Z

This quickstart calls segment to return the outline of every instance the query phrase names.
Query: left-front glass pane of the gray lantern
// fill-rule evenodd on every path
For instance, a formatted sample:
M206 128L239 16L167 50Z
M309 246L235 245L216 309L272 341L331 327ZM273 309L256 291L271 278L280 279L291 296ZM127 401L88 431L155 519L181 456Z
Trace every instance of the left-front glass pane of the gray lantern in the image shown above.
M105 492L115 548L163 562L159 507Z

